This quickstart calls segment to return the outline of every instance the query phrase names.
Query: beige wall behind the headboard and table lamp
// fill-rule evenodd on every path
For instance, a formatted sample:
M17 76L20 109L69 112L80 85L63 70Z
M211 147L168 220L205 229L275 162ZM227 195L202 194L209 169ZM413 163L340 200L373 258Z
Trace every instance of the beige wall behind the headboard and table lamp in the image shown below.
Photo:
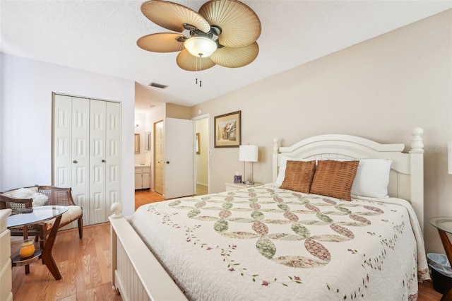
M452 216L452 10L420 20L233 93L192 107L213 117L242 111L242 143L260 146L254 181L272 182L273 138L283 146L319 134L351 134L410 145L424 128L427 252L441 252L432 216ZM303 49L299 49L300 52ZM227 83L227 78L224 79ZM242 171L238 148L214 148L210 134L210 192L225 190Z

